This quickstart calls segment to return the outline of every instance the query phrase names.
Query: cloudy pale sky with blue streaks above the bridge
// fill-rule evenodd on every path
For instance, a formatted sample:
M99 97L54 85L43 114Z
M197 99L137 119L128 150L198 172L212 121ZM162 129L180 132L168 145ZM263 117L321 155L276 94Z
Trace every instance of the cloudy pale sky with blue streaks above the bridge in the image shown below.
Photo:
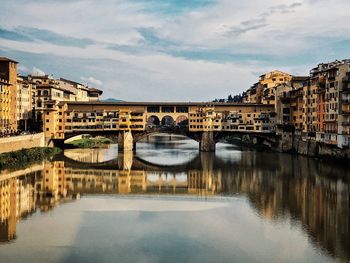
M349 0L2 0L0 56L126 101L211 101L350 58Z

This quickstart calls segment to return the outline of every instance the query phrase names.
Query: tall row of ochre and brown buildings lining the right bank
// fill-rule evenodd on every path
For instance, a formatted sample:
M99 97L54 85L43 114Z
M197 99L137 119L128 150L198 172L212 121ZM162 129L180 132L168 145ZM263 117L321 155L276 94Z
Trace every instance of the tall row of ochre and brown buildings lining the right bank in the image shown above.
M349 147L350 60L321 63L277 87L277 124L307 139Z

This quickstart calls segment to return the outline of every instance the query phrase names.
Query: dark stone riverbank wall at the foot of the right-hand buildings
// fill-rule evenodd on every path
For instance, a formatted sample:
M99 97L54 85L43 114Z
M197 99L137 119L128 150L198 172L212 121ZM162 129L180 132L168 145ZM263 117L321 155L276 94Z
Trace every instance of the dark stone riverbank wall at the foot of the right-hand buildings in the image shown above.
M283 133L277 147L280 152L294 152L309 157L350 161L350 148L317 142L294 133Z

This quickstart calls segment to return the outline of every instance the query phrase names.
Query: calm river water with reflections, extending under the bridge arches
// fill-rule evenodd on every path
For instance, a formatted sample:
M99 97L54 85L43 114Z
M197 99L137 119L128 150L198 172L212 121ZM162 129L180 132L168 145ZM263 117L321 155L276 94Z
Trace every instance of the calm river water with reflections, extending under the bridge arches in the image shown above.
M0 262L350 260L349 166L228 144L66 150L2 171L0 213Z

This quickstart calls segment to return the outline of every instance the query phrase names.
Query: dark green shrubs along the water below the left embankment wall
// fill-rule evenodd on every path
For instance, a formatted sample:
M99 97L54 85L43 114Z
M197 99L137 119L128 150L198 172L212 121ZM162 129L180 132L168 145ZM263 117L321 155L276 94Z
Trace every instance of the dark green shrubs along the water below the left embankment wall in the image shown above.
M2 153L0 154L0 170L25 167L31 163L46 160L60 151L58 148L36 147Z

